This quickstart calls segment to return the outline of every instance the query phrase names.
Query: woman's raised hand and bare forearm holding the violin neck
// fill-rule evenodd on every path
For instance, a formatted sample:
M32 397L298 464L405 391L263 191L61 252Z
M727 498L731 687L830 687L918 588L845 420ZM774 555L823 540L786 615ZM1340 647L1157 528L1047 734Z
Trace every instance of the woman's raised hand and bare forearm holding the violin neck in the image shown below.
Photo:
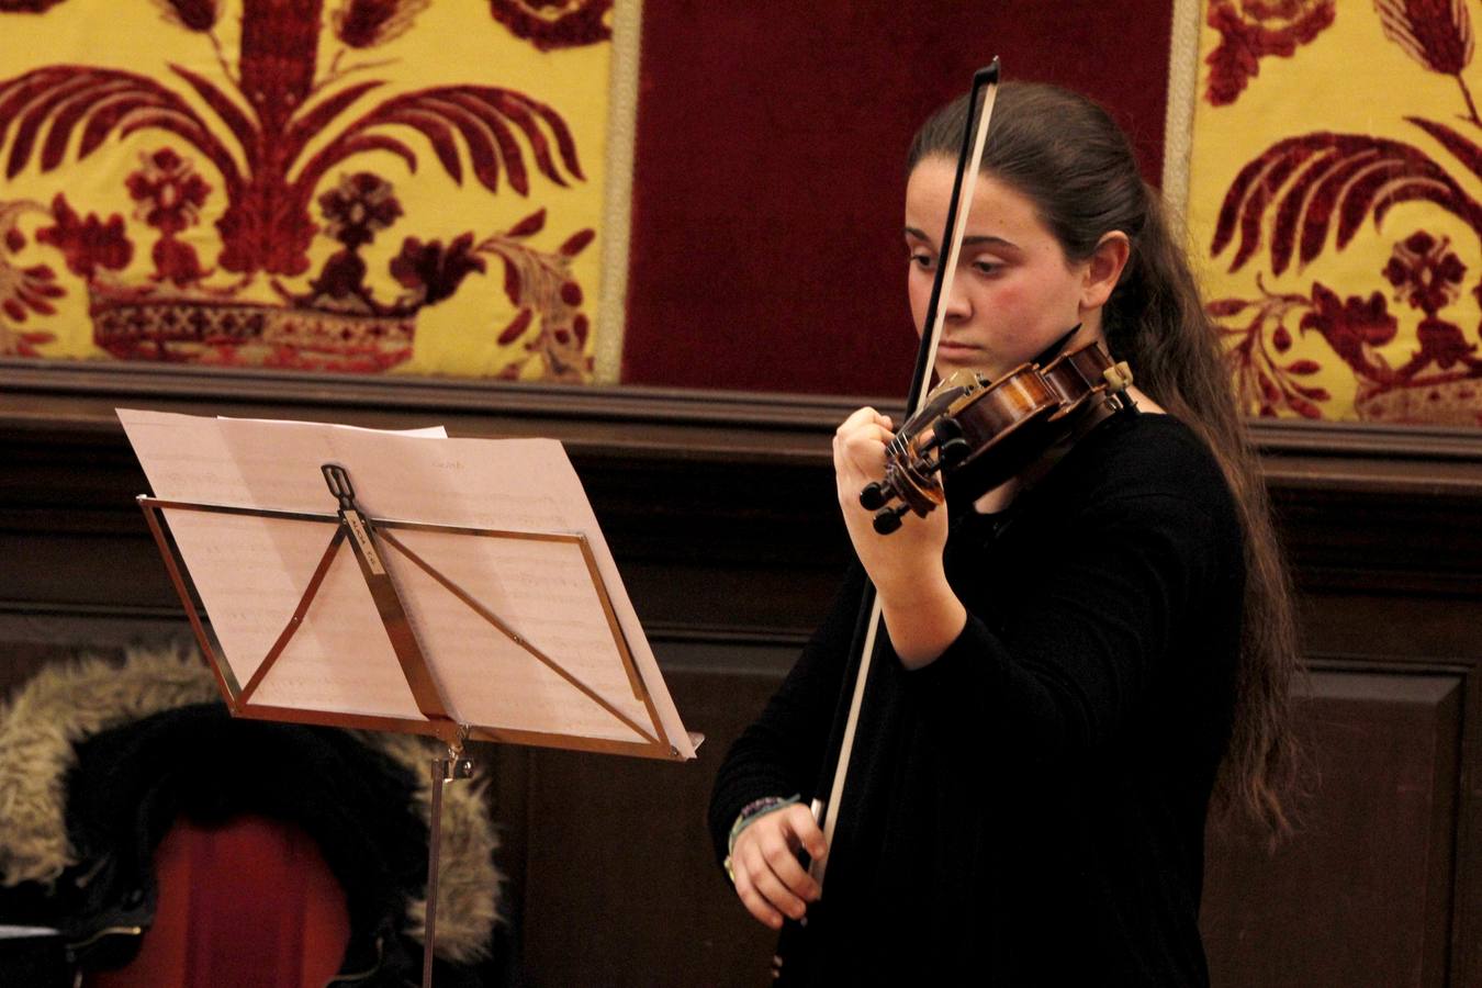
M834 431L834 480L849 541L874 584L897 653L907 665L925 665L962 631L966 612L947 585L947 508L925 518L908 513L900 530L880 535L874 514L860 505L865 484L885 477L885 446L892 422L864 407Z

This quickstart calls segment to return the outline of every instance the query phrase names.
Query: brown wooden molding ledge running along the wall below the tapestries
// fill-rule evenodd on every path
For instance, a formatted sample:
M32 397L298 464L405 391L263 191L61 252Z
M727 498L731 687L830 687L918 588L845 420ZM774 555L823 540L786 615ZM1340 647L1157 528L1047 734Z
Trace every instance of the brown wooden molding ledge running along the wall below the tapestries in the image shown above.
M271 415L357 425L437 419L458 435L535 434L582 453L643 449L680 459L825 464L827 438L880 397L569 387L452 378L0 358L0 428L117 430L113 409ZM1251 434L1279 487L1482 496L1482 430L1257 419Z

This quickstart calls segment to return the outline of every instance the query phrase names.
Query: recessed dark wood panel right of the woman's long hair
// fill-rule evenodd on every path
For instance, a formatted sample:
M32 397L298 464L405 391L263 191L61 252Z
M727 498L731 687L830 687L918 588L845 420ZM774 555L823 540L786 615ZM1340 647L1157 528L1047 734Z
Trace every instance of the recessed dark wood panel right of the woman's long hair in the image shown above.
M1319 671L1300 704L1316 787L1270 853L1211 832L1203 909L1221 985L1445 985L1460 672Z

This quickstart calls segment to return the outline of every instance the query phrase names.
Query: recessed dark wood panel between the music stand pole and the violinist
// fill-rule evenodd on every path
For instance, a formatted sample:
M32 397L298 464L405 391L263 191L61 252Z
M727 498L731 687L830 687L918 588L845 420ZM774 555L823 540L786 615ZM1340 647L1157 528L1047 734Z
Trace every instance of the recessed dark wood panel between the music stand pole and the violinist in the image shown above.
M725 750L777 687L772 675L665 674L694 764L532 752L525 958L532 988L760 985L775 935L711 856L704 807Z

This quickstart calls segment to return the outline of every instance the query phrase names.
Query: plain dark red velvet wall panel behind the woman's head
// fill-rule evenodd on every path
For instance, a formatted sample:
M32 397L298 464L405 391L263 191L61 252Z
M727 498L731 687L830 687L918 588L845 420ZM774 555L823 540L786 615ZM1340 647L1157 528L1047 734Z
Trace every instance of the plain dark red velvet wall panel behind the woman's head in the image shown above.
M914 129L993 55L1162 173L1171 0L645 4L627 384L904 397Z

